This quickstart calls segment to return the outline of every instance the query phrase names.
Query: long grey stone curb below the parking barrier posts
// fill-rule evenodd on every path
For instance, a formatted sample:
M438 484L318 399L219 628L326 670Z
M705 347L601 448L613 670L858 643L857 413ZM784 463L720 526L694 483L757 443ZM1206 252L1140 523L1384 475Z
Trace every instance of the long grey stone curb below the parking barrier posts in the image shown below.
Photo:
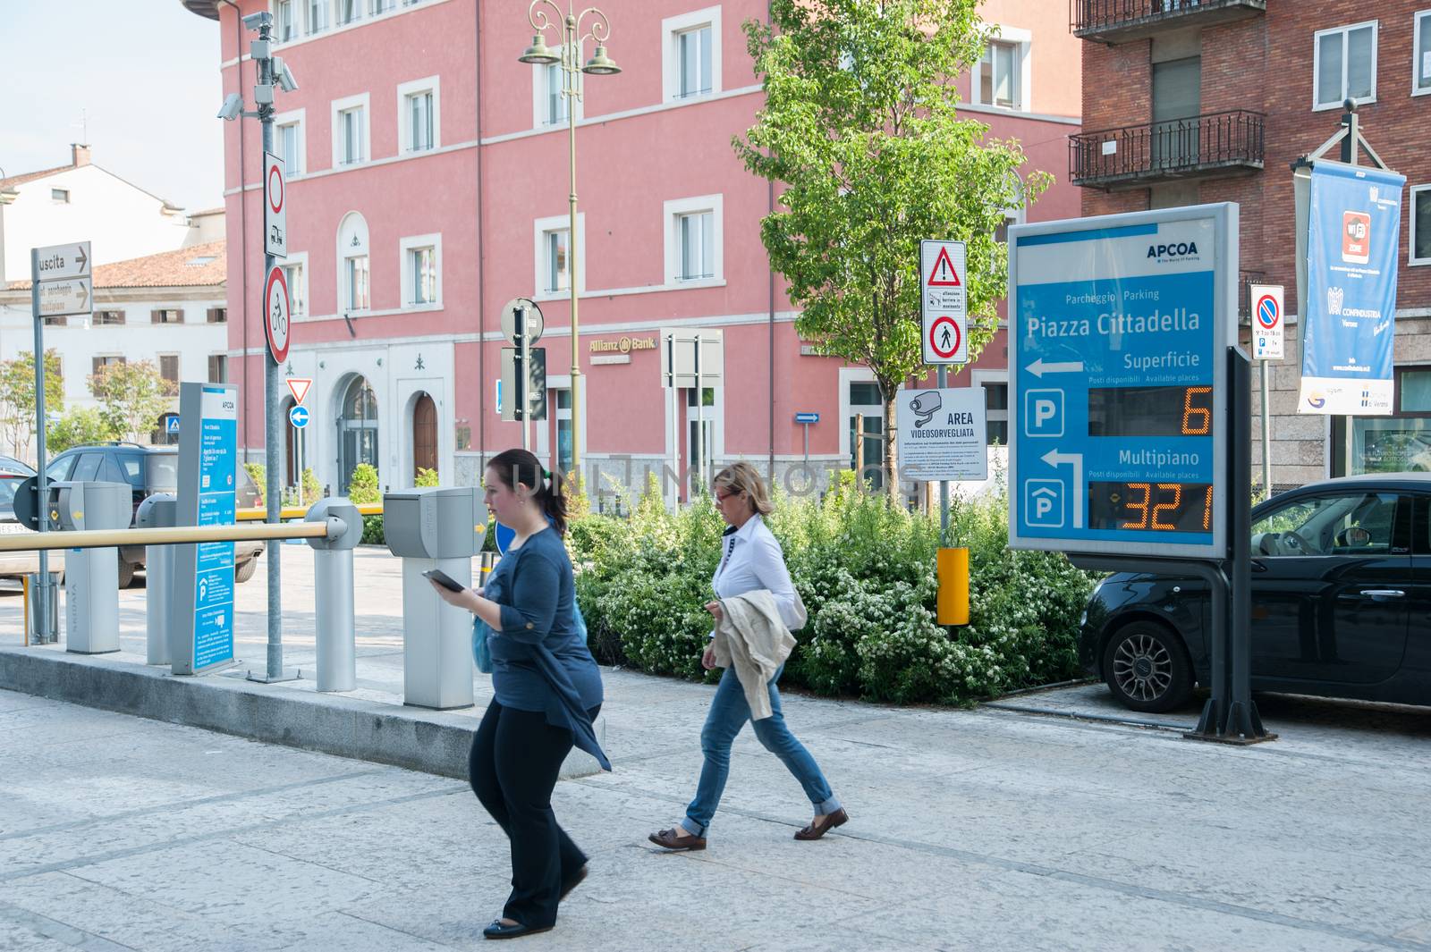
M465 780L477 720L238 678L175 676L104 655L0 648L0 688ZM598 719L600 720L600 719ZM598 722L605 739L605 723ZM561 779L600 773L572 750Z

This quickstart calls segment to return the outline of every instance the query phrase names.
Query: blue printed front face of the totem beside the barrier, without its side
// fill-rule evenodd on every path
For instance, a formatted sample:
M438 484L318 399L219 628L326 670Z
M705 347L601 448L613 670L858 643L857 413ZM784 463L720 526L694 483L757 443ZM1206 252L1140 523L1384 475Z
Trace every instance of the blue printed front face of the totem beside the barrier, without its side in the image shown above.
M238 406L228 387L203 389L199 429L199 525L232 526L238 473ZM197 546L193 668L233 660L233 543Z

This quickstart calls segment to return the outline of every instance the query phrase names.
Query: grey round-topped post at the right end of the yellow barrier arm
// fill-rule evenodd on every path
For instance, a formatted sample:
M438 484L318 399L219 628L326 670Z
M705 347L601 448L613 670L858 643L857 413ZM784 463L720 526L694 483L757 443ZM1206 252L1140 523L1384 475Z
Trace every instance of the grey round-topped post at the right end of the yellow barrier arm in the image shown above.
M346 499L319 499L305 522L326 522L328 536L313 546L313 612L318 619L318 689L358 686L353 616L353 549L362 540L362 516Z

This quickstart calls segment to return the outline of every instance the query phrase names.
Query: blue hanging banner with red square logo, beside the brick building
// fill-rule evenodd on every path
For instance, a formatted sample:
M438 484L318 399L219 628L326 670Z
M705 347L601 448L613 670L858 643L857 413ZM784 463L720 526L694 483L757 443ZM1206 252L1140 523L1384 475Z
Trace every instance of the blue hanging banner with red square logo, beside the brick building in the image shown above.
M1298 413L1391 413L1405 176L1318 160L1307 224Z

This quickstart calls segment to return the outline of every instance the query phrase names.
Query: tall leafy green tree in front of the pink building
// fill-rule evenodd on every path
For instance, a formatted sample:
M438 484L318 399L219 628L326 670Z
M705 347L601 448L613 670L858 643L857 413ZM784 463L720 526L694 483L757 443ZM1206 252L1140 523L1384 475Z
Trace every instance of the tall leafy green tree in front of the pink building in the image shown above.
M922 239L967 242L969 359L997 329L997 229L1052 182L1016 142L956 114L954 79L989 36L975 0L773 0L746 23L766 104L734 147L780 189L761 220L800 336L864 363L884 402L886 486L899 493L894 393L922 366Z

